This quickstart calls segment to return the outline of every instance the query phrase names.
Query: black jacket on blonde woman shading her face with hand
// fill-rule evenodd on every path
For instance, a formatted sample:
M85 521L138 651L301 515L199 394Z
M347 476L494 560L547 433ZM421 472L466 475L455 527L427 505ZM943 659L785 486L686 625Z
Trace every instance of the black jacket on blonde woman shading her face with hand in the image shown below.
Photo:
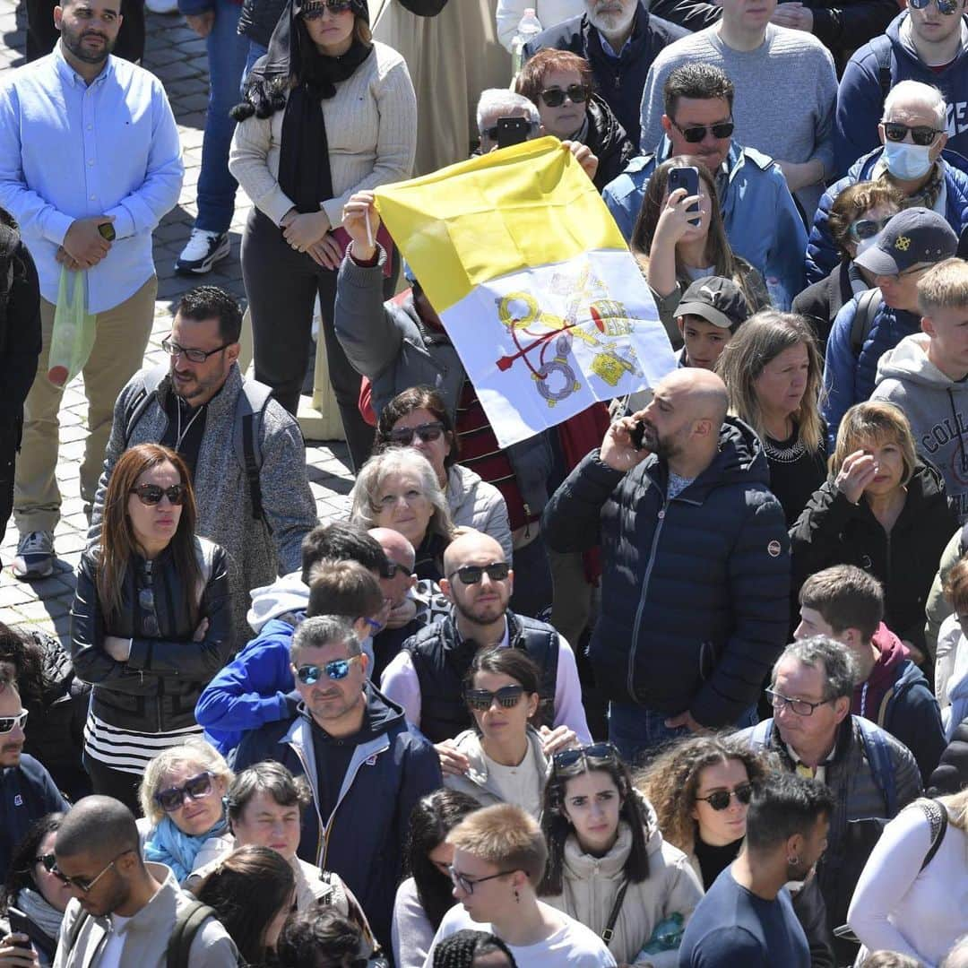
M904 508L889 535L866 500L852 504L828 480L790 529L793 602L803 582L833 564L856 564L884 585L888 627L924 648L924 603L957 518L945 482L933 464L919 460Z

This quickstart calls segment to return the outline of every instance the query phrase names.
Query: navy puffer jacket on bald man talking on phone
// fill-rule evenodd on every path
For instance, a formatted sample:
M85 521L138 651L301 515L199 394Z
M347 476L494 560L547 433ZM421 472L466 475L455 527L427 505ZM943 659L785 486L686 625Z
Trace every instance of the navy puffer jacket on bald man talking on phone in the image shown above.
M555 551L602 546L590 659L607 698L735 723L786 643L790 555L763 447L727 418L719 452L666 499L654 455L622 474L592 451L545 509Z

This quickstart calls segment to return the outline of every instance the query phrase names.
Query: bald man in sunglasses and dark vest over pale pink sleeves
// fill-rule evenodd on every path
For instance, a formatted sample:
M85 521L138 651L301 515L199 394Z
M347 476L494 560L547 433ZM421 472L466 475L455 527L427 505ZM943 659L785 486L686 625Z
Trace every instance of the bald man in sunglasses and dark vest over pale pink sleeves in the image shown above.
M490 535L467 529L443 553L440 590L449 612L404 643L380 680L385 696L437 744L443 770L463 772L467 758L449 743L472 725L464 677L481 646L523 649L542 671L541 729L546 752L590 741L575 654L547 622L511 612L514 572Z

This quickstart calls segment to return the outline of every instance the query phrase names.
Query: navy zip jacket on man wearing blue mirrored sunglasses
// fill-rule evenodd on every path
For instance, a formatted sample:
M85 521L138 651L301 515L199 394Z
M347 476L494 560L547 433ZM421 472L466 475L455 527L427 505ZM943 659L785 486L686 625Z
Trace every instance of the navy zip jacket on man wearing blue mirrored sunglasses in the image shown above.
M363 730L342 741L353 744L352 757L333 812L321 817L313 732L322 731L298 699L295 693L289 697L285 719L246 734L235 757L235 770L275 760L294 775L306 777L313 804L303 810L297 853L347 882L378 941L389 951L410 812L443 782L437 751L409 725L399 706L368 684Z

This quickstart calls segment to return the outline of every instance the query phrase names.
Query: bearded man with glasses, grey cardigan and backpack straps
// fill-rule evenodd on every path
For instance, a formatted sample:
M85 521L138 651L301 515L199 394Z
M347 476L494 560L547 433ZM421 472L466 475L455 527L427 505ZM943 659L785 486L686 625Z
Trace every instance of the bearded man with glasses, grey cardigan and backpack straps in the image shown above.
M239 371L241 325L224 289L182 296L162 344L168 364L139 371L117 398L88 532L89 542L101 533L107 483L128 447L177 451L192 473L197 533L228 553L236 649L249 638L249 591L299 568L302 540L317 524L298 424Z

